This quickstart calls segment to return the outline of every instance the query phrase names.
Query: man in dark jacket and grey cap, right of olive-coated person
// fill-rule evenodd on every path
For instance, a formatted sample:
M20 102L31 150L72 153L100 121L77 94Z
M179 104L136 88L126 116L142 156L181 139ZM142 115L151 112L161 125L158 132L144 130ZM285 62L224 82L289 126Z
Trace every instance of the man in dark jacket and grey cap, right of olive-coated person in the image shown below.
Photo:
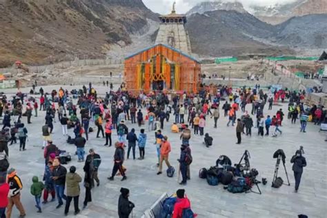
M86 157L85 166L89 168L90 177L91 177L91 187L95 186L93 179L97 182L97 186L100 186L100 180L98 177L98 170L101 164L101 157L99 154L95 153L95 150L91 148L89 151L89 155Z

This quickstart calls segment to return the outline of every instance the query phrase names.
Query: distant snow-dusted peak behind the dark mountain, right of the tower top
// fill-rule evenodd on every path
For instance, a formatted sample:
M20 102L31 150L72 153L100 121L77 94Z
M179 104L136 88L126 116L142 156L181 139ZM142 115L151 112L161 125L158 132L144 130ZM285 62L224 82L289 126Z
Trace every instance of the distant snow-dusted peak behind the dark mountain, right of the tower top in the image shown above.
M198 3L196 6L191 8L186 15L190 16L191 14L199 13L204 14L204 12L209 12L213 10L235 10L240 13L245 13L246 10L243 8L242 3L235 2L226 2L226 1L203 1Z

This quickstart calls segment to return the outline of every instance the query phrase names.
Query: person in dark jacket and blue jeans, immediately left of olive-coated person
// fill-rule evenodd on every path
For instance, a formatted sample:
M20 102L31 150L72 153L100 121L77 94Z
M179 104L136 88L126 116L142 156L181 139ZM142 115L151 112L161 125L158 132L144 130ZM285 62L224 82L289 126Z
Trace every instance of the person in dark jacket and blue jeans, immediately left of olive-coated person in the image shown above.
M67 199L66 195L64 194L67 170L64 166L60 165L60 161L57 158L54 159L52 166L54 166L54 170L52 171L52 180L54 181L54 188L58 199L58 205L56 208L60 208L63 205L62 199Z

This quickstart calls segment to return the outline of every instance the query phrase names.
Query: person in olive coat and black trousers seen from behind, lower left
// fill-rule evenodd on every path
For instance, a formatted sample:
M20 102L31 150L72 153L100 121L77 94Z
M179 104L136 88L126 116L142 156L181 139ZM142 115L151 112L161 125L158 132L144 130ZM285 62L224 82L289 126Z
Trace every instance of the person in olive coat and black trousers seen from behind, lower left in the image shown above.
M66 175L67 200L66 200L66 207L65 207L65 216L68 215L70 202L72 201L72 199L74 199L74 208L75 208L74 215L77 215L79 213L79 194L80 194L79 183L81 181L82 181L81 176L76 173L75 166L71 166L69 168L69 172Z

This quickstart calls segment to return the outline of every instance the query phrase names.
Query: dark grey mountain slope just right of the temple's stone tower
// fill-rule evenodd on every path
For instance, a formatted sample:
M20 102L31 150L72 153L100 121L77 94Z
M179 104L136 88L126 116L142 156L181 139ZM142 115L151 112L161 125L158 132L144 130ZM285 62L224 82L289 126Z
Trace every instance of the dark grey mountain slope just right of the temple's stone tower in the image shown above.
M275 35L274 26L259 21L252 14L235 10L192 14L188 17L186 30L190 36L192 52L204 56L293 52L268 40Z

